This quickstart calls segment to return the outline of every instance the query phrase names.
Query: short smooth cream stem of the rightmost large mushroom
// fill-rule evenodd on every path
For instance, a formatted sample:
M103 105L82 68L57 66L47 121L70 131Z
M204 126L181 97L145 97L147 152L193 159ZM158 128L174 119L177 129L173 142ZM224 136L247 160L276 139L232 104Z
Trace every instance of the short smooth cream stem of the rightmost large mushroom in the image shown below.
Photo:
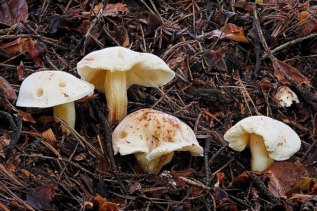
M263 137L255 133L250 134L250 148L252 153L251 170L263 171L273 165L274 160L268 156Z

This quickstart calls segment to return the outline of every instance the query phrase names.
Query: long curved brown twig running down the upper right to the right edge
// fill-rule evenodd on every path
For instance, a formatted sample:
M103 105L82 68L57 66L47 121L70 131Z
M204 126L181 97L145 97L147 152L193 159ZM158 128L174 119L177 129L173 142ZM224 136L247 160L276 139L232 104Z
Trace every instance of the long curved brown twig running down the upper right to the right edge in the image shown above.
M295 79L291 78L289 75L285 73L283 68L279 65L277 62L277 59L273 56L272 52L267 46L267 43L265 41L265 38L262 33L262 29L260 26L260 20L258 18L257 10L256 10L256 5L253 6L253 14L254 14L254 21L255 25L259 34L259 37L261 39L262 45L269 57L269 59L272 61L273 65L277 68L278 72L292 85L295 86L302 94L302 96L305 98L305 100L310 103L314 108L317 108L317 96L311 93L308 89L300 85Z

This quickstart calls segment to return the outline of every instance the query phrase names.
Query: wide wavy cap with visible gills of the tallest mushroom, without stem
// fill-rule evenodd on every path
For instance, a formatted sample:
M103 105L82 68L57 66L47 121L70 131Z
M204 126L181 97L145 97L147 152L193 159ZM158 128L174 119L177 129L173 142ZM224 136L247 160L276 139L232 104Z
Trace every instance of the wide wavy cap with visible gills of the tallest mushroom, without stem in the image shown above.
M87 54L77 64L81 79L104 90L105 71L127 72L127 87L132 84L159 87L169 82L175 73L160 58L150 53L139 53L121 46L105 48Z

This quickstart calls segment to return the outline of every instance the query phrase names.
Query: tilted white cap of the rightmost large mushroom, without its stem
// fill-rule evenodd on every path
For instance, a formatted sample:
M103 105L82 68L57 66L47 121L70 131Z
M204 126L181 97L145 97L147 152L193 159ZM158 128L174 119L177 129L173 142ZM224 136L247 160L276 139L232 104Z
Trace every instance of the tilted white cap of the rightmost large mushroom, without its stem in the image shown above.
M275 160L286 160L301 147L295 131L268 116L249 116L230 128L223 138L229 142L229 147L242 151L249 145L250 134L263 137L268 156Z

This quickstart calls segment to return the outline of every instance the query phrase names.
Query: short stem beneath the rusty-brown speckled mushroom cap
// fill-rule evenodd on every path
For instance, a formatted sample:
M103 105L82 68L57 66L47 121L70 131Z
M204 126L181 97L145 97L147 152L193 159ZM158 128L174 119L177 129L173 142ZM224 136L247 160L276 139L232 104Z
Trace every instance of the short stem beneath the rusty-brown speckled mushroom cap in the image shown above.
M160 173L162 167L172 160L174 152L171 152L166 155L161 155L152 160L148 160L143 152L135 153L134 155L137 158L138 163L143 172L148 172L157 175Z

